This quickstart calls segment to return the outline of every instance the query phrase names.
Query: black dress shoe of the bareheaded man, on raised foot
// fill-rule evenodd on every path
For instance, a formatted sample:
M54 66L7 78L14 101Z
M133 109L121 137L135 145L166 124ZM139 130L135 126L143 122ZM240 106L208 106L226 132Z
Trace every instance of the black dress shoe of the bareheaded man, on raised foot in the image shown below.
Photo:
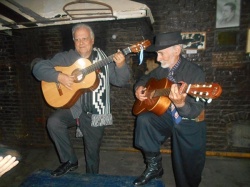
M54 177L59 177L64 175L69 171L74 171L78 168L78 162L71 163L70 161L62 163L55 171L51 172Z

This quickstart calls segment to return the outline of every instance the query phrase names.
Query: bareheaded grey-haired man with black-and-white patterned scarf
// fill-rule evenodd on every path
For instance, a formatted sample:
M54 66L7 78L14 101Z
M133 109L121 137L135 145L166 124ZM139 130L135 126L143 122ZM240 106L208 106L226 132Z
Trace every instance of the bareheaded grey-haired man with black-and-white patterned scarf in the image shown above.
M42 60L33 67L38 80L56 82L71 89L74 78L56 71L55 66L71 66L79 58L89 59L92 63L106 58L99 48L93 48L94 33L85 24L77 24L72 29L75 50L60 52L51 60ZM100 69L99 86L92 92L84 93L69 109L58 109L47 121L51 139L59 153L61 165L51 175L61 176L78 167L78 159L70 141L68 128L78 124L78 136L83 137L86 158L86 173L99 171L99 153L104 127L112 124L110 113L110 86L124 86L130 79L130 71L121 52L113 56L115 63Z

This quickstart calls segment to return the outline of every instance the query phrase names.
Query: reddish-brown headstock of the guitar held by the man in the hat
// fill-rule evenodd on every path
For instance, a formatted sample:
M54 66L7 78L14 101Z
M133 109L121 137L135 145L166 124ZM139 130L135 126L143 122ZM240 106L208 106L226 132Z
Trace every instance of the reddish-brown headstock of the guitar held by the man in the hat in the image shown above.
M187 93L198 99L206 99L208 102L218 98L222 88L218 83L192 84L187 88Z

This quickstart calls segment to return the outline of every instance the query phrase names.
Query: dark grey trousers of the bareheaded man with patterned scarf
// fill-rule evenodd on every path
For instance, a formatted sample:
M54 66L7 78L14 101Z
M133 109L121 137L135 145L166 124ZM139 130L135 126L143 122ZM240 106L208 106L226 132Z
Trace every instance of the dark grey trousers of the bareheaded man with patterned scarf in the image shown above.
M91 116L84 112L80 115L79 122L83 133L86 172L98 173L104 127L91 127ZM75 163L78 159L70 140L70 127L76 127L76 119L69 109L59 109L48 118L48 132L56 146L60 161Z

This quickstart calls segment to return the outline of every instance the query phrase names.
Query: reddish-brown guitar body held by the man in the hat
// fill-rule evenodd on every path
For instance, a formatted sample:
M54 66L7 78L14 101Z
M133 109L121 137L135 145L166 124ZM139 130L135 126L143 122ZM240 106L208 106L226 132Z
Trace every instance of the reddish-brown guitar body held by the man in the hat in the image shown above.
M168 79L150 79L146 84L146 92L150 94L150 92L157 90L157 89L164 89L170 88L172 82ZM169 105L171 104L171 100L167 96L159 96L148 98L144 101L136 100L133 106L133 114L138 115L142 112L151 111L156 115L160 116L168 109Z

